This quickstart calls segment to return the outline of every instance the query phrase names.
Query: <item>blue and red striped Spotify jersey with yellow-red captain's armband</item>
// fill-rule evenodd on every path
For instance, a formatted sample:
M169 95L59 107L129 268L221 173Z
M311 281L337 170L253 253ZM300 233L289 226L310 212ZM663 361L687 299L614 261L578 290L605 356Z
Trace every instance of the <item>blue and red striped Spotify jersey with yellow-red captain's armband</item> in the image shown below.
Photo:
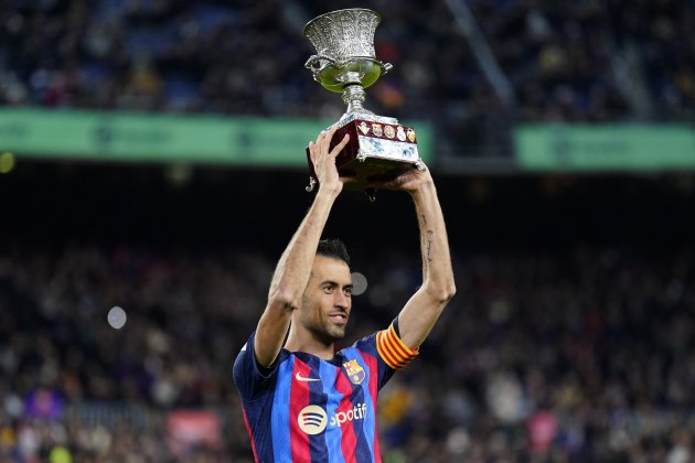
M234 363L234 381L257 462L382 461L378 390L417 355L393 324L331 360L284 348L268 369L256 362L254 336Z

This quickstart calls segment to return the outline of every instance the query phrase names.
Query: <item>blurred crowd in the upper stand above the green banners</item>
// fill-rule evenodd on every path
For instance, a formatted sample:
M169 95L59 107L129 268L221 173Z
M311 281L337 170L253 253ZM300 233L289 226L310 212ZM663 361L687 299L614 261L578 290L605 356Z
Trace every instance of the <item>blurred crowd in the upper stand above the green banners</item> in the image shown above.
M368 91L377 114L468 127L522 120L692 118L692 1L468 2L509 84L488 84L446 2L378 0ZM0 101L99 109L335 117L338 95L303 68L309 19L345 1L2 0ZM496 109L495 109L496 108Z

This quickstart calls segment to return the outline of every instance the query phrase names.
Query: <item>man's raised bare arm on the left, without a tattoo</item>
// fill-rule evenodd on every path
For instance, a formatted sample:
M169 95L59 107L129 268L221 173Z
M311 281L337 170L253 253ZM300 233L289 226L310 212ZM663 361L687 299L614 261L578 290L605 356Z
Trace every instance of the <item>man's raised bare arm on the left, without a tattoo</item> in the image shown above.
M316 143L309 143L311 160L319 179L319 191L301 225L282 252L275 270L268 304L258 321L254 352L265 367L272 365L282 348L292 311L299 306L301 295L309 281L311 265L331 207L340 192L342 182L335 168L335 155L348 143L349 136L329 152L335 128L321 132Z

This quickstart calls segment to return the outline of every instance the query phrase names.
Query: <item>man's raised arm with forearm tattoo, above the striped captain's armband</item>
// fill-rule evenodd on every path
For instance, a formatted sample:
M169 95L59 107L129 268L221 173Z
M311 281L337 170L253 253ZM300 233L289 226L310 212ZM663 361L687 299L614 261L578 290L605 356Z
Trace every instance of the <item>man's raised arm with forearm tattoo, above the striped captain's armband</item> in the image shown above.
M420 232L423 286L398 314L400 340L415 348L423 344L456 293L447 229L429 170L409 171L383 186L407 191L415 202Z

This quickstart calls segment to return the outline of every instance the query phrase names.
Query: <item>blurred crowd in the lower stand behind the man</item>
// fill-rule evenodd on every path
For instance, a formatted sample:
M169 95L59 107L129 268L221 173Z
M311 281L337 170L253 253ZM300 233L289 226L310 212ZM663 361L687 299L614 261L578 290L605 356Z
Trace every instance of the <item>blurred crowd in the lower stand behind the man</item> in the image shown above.
M370 288L350 337L386 326L417 257L356 256ZM382 395L386 461L692 461L694 257L459 256L462 295ZM249 249L3 254L0 459L248 461L231 365L272 265ZM116 303L121 330L106 323ZM181 409L211 414L180 429Z

